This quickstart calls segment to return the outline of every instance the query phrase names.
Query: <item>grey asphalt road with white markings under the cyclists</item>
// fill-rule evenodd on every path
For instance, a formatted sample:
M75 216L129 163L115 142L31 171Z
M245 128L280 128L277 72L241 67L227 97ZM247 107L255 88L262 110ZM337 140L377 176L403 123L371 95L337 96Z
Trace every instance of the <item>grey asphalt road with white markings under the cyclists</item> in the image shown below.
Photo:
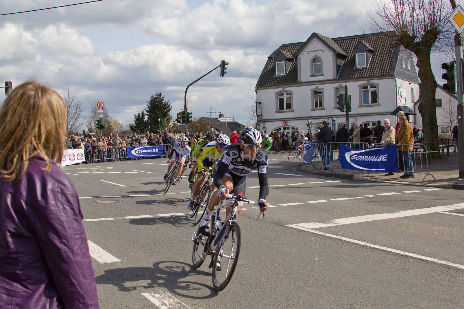
M165 160L64 167L80 196L100 307L463 308L463 191L312 176L277 155L269 162L276 207L254 221L258 209L245 204L238 266L219 293L209 263L191 265L187 178L159 195ZM257 186L251 173L248 198Z

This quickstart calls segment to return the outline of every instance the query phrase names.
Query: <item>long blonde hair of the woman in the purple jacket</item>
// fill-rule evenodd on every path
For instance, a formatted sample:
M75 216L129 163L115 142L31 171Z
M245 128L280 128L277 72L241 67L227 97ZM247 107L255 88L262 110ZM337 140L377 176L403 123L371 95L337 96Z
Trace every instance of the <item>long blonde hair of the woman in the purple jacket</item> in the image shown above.
M61 162L65 149L66 106L50 87L25 82L8 95L0 108L0 178L20 179L34 156Z

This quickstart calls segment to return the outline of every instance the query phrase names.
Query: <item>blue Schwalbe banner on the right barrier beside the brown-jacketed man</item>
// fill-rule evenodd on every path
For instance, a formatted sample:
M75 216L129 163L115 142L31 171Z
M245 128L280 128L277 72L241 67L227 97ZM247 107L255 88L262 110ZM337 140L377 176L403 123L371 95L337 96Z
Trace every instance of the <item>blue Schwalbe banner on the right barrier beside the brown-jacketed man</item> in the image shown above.
M348 170L397 172L398 146L385 145L357 150L340 144L338 161L343 169Z

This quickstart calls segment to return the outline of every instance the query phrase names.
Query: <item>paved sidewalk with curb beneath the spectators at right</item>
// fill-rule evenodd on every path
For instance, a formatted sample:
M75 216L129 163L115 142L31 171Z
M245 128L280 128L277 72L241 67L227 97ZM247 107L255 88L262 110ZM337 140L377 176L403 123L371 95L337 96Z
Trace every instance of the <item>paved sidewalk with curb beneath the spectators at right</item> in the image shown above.
M334 164L338 165L338 164ZM330 166L334 171L324 170L320 172L322 166L316 165L315 169L312 165L301 164L296 167L296 170L302 173L326 176L326 177L338 177L345 179L353 180L362 180L362 181L372 181L372 182L385 182L385 183L395 183L395 184L407 184L407 185L416 185L416 186L427 186L427 187L436 187L444 189L461 189L464 190L464 179L459 180L458 178L458 152L450 152L449 156L444 156L442 159L432 160L429 165L429 172L432 176L427 176L424 179L425 174L416 173L415 178L403 179L400 178L403 175L402 172L397 172L393 176L384 176L386 173L374 174L370 173L367 176L367 172L361 170L344 170L340 167ZM425 170L425 167L424 167ZM364 174L364 176L363 176Z

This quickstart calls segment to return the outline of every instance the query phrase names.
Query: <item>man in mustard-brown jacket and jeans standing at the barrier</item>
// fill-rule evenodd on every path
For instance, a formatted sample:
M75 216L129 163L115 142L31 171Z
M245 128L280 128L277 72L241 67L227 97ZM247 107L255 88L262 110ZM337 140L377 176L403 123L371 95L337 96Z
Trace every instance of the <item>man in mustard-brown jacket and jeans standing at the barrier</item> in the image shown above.
M398 117L400 126L398 127L398 133L396 134L396 140L398 142L398 153L400 159L403 160L404 164L404 175L400 178L414 178L414 167L412 166L411 151L414 148L414 137L412 134L412 126L409 124L405 116Z

